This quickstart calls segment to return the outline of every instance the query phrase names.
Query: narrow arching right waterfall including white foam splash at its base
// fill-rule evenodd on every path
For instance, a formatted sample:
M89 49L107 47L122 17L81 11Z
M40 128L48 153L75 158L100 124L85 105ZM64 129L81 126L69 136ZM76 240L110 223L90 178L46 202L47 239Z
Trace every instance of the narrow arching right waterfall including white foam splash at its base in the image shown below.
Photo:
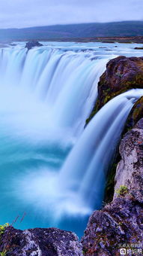
M29 174L20 182L26 200L31 203L36 200L39 208L52 211L52 218L56 221L62 215L89 215L94 209L99 209L109 163L124 123L142 95L142 89L130 90L101 108L79 137L59 172L40 169L40 175L31 178ZM28 180L31 180L30 184Z

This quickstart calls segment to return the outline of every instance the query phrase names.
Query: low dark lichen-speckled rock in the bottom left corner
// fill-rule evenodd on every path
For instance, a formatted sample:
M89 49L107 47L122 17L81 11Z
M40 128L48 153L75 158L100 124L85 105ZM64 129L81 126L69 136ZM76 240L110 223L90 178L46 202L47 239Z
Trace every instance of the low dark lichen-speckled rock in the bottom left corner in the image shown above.
M7 227L0 239L0 251L7 256L82 256L82 245L72 232L56 228L16 230Z

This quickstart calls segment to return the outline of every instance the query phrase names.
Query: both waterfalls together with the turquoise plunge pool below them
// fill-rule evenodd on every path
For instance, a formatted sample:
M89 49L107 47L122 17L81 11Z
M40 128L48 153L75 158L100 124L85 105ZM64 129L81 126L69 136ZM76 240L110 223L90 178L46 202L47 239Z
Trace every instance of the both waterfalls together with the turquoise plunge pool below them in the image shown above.
M115 145L143 95L116 97L84 130L109 57L62 47L0 50L1 223L26 212L16 227L80 234L100 207Z

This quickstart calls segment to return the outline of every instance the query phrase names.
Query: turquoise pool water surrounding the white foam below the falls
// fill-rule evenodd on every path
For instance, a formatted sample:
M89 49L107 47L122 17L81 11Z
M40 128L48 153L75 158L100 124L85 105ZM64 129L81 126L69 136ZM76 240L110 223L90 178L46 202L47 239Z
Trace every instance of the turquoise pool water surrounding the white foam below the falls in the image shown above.
M41 209L36 198L32 203L21 200L23 197L19 189L19 182L23 181L26 175L29 178L26 178L25 182L30 183L32 178L40 175L41 172L46 177L47 168L50 172L58 172L69 151L70 147L63 149L58 145L49 147L33 145L1 134L1 224L5 222L12 224L18 217L13 226L19 229L58 226L64 230L76 230L79 236L82 235L88 216L79 218L79 216L65 214L57 221L53 219L52 212L45 209L45 200L43 200ZM24 186L26 187L26 184ZM43 184L36 184L34 189L38 189L38 186L41 187ZM32 194L34 192L36 191L31 191ZM54 214L55 211L58 209L54 209Z

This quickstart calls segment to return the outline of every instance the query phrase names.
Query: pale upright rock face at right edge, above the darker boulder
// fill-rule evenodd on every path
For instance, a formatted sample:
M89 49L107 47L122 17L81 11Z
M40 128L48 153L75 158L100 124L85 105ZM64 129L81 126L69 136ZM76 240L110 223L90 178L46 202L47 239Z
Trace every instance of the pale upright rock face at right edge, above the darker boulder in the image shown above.
M143 203L143 119L122 139L121 161L115 175L115 190L127 187L136 200ZM115 193L114 198L118 195Z

